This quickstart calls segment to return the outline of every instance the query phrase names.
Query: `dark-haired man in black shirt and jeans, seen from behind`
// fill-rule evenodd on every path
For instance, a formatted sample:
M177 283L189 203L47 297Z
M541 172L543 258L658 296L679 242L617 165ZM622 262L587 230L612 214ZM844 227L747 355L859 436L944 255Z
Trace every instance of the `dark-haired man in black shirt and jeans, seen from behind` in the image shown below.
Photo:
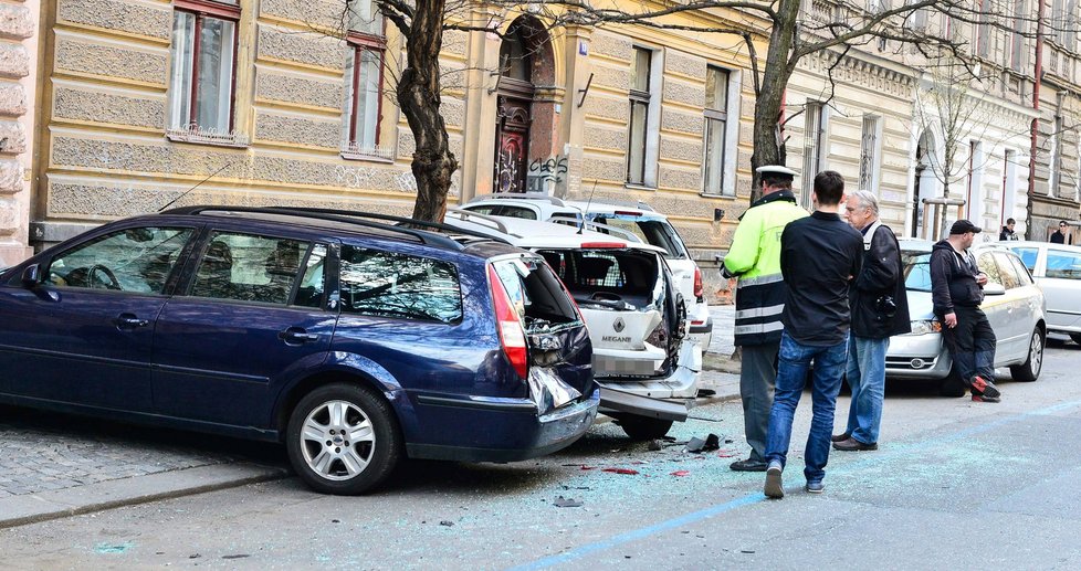
M785 228L780 268L788 284L781 315L777 391L766 437L767 497L783 498L781 475L788 459L793 417L810 374L814 416L804 450L804 489L820 494L829 461L833 410L848 364L851 310L849 288L860 275L863 236L838 215L844 179L832 170L815 177L815 212Z

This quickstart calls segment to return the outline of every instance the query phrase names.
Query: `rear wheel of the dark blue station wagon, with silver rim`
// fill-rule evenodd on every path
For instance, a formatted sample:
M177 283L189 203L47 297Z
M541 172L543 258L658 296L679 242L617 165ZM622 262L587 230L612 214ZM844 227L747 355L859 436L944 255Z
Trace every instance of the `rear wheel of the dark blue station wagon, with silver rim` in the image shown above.
M296 404L285 447L293 469L313 489L356 496L390 475L402 437L386 400L364 387L335 383Z

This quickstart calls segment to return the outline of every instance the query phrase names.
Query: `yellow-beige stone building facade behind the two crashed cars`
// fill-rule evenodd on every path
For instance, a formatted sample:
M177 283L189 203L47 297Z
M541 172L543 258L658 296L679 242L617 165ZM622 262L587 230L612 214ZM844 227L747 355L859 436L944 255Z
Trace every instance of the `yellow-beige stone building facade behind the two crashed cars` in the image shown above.
M46 7L31 243L170 204L410 212L413 140L393 98L402 39L372 2L357 6ZM536 15L480 3L455 18L502 33L443 40L441 112L461 162L452 204L521 190L646 200L712 261L749 193L742 39L545 30Z

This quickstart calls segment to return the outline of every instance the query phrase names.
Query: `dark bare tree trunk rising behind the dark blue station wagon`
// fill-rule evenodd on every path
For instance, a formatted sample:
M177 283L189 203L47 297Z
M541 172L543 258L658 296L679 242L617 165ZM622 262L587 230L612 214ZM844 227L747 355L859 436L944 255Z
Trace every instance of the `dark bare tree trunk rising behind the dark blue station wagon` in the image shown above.
M443 0L417 1L406 41L406 68L398 81L398 105L417 141L412 162L417 202L412 216L429 222L443 221L451 176L458 170L447 125L439 114L439 52L445 4Z

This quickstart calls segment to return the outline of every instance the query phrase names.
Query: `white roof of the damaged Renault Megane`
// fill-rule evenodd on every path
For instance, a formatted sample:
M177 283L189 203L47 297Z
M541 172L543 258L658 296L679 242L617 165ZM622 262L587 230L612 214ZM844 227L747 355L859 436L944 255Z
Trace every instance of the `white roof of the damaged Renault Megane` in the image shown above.
M518 247L559 247L581 249L588 244L613 244L615 247L627 247L664 254L664 250L642 242L631 242L610 234L579 230L567 224L539 222L519 218L490 216L462 210L448 210L443 223L451 226L471 230L497 237Z

